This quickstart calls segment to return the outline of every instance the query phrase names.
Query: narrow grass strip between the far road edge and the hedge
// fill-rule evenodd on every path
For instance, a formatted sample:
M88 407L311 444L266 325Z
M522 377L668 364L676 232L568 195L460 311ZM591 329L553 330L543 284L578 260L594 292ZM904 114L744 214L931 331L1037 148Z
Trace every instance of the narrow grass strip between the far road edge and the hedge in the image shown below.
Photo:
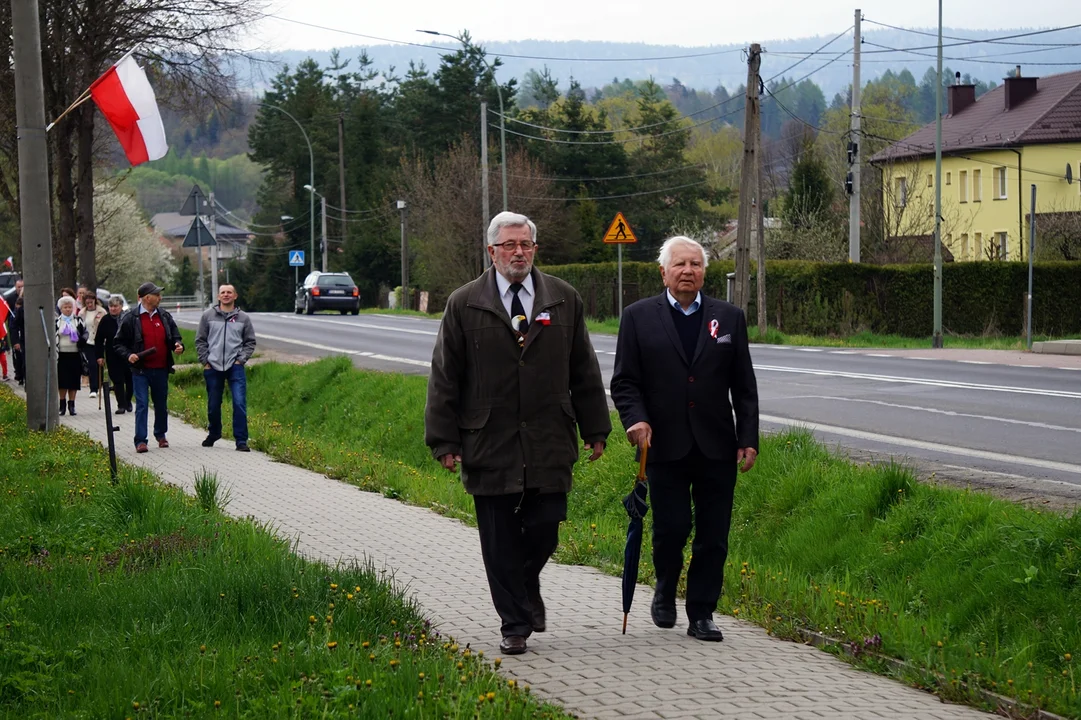
M616 318L606 320L587 319L586 326L590 333L605 333L610 335L618 334L619 321ZM747 329L751 343L764 343L768 345L798 345L813 347L878 347L892 349L930 349L931 336L927 337L903 337L900 335L878 335L876 333L856 333L855 335L819 336L819 335L791 335L770 328L766 330L765 338L760 339L758 328L751 325ZM1070 335L1067 338L1036 335L1032 342L1040 343L1052 339L1076 339L1081 335ZM947 348L963 348L971 350L1025 350L1027 338L1011 335L946 335L943 339Z

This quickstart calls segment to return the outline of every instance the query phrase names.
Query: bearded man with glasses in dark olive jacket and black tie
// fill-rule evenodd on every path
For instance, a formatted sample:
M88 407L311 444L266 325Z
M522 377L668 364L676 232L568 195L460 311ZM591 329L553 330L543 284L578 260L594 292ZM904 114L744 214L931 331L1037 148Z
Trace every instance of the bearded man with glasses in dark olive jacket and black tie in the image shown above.
M540 570L559 543L580 432L589 459L612 423L582 298L533 268L536 226L499 213L492 267L446 304L431 358L425 442L473 496L499 649L544 631Z

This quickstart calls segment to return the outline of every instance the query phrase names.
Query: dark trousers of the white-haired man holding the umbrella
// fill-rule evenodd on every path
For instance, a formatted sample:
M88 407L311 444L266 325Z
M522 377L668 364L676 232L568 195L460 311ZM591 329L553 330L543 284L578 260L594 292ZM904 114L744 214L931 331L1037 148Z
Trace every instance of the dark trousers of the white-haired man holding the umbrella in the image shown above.
M676 586L683 570L683 548L693 525L686 614L691 621L710 618L724 585L736 486L735 458L731 463L708 459L695 448L681 461L650 465L646 475L657 595L664 602L675 604Z

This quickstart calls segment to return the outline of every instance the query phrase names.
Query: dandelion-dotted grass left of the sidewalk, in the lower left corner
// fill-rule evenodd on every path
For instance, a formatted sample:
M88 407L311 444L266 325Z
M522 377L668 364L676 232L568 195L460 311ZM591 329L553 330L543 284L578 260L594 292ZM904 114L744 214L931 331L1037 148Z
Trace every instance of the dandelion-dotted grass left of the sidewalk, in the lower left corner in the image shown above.
M219 515L209 478L204 510L146 471L108 477L101 446L28 434L0 389L3 717L564 717L382 572Z

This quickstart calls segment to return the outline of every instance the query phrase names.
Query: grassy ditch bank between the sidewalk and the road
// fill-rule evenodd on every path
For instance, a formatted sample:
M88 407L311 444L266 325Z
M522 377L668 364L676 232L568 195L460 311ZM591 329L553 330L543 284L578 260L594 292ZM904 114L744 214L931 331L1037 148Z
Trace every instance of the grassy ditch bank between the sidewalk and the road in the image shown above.
M175 379L174 406L204 422L201 375ZM250 371L253 444L471 523L457 476L424 446L425 387L424 377L362 372L345 358L261 364ZM622 569L619 498L637 469L615 424L605 456L576 467L557 554L610 573ZM796 431L764 439L737 486L734 518L722 612L780 637L808 628L880 646L919 668L908 681L951 698L978 702L969 683L1081 714L1072 662L1081 653L1081 516L929 486L900 467L855 466ZM649 552L640 577L653 579ZM618 604L613 597L613 631Z

